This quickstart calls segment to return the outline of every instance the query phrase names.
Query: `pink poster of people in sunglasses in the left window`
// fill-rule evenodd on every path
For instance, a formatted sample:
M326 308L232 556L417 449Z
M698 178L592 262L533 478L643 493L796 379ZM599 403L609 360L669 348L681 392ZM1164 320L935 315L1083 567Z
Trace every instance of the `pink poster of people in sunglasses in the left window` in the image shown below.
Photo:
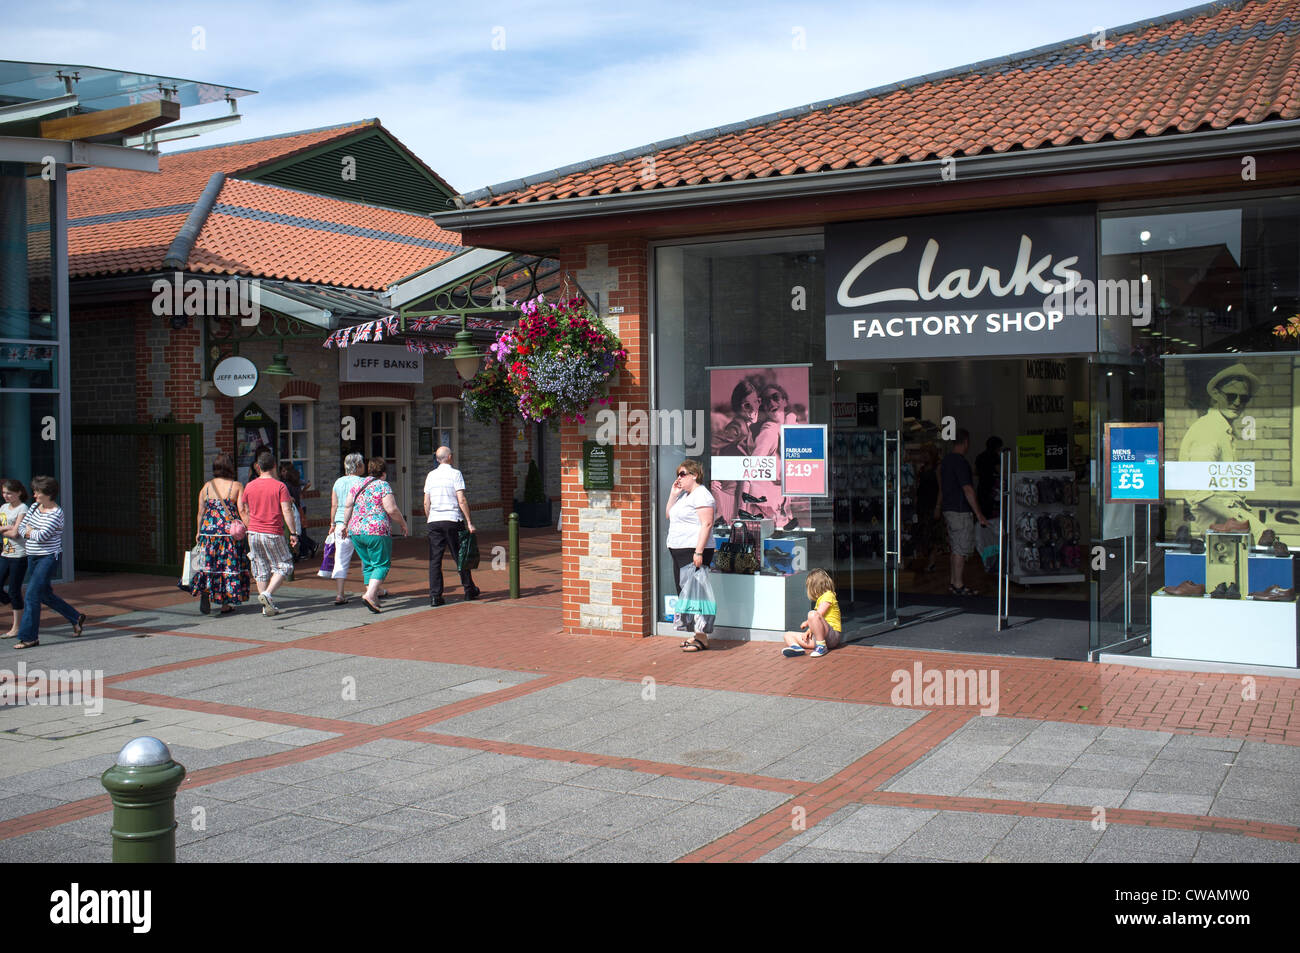
M718 503L718 517L770 519L777 529L811 524L807 497L781 494L781 426L806 424L809 417L807 367L712 368L708 372L710 491ZM749 467L767 458L777 465L755 478L759 468Z

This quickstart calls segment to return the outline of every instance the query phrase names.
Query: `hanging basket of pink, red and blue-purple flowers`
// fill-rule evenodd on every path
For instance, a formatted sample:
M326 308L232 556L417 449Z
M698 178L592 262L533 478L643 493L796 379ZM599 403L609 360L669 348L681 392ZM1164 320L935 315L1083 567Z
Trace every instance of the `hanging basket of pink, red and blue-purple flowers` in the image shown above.
M519 415L552 424L586 423L606 403L610 374L628 352L581 298L517 306L519 324L497 335L484 368L465 384L465 410L491 423Z

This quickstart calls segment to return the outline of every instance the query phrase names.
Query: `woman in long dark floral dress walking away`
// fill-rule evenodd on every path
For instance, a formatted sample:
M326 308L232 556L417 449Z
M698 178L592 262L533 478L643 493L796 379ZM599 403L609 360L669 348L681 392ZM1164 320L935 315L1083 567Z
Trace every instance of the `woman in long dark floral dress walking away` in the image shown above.
M235 462L230 454L217 454L212 462L212 480L199 490L199 533L196 547L203 553L203 568L190 580L190 593L199 597L199 611L207 615L216 602L221 615L230 615L240 602L248 601L248 556L243 543L231 536L231 524L239 520L243 484L235 480Z

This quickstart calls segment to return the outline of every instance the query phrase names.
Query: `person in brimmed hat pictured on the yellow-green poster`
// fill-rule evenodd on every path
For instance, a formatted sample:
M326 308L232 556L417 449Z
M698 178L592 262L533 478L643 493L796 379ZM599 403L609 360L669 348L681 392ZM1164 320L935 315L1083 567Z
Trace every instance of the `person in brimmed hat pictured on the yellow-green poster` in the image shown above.
M1192 424L1178 447L1180 462L1234 463L1234 426L1245 413L1247 404L1260 387L1260 378L1249 372L1245 364L1232 364L1219 371L1205 385L1210 407ZM1201 490L1188 494L1192 507L1193 536L1201 536L1213 524L1239 520L1251 524L1251 532L1258 537L1264 524L1253 514L1242 494L1231 490Z

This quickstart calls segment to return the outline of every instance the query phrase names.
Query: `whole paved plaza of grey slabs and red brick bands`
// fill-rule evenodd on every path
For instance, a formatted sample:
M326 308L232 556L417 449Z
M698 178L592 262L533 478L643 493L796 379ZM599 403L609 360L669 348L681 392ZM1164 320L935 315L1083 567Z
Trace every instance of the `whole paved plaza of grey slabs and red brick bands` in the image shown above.
M182 862L1300 861L1300 680L564 636L558 543L524 534L520 601L485 566L482 601L430 608L402 541L378 616L306 567L270 619L64 586L86 636L47 621L0 677L103 697L0 711L0 859L109 861L99 776L152 735L188 770ZM918 663L996 672L996 711L900 699Z

